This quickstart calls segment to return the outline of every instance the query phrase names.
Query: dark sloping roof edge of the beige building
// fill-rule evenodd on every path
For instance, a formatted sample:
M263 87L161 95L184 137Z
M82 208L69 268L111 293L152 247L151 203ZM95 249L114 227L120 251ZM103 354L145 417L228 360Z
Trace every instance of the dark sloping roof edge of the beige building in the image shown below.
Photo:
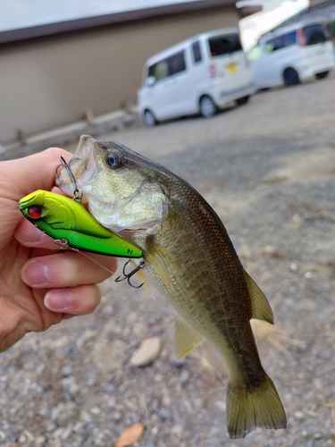
M231 6L235 5L235 3L236 0L196 0L179 4L166 4L163 6L138 9L123 13L111 13L71 21L48 23L18 30L5 30L0 32L0 44L28 38L51 36L75 30L92 29L122 22L144 20L160 15L186 13L218 6Z

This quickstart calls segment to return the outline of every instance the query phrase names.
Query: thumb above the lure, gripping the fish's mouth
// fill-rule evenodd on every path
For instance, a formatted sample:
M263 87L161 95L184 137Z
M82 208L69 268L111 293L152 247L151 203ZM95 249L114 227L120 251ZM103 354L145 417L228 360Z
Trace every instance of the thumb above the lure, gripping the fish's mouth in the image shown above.
M0 196L17 202L34 190L52 190L60 156L68 161L72 155L61 148L49 148L0 163Z

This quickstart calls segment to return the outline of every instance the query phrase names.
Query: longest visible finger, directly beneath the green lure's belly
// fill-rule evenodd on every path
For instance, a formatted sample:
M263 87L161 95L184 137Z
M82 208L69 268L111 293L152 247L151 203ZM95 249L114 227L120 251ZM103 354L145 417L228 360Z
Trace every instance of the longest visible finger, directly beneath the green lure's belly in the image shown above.
M116 264L115 257L67 251L29 259L21 269L21 278L37 289L75 287L102 283L114 273Z

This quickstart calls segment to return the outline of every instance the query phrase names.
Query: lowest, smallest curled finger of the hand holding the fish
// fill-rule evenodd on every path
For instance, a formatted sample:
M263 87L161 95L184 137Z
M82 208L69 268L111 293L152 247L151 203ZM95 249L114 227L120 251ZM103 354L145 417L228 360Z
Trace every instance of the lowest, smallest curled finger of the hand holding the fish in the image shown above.
M94 284L88 284L74 288L52 289L46 293L44 305L54 312L71 316L87 315L95 310L100 299L100 289Z

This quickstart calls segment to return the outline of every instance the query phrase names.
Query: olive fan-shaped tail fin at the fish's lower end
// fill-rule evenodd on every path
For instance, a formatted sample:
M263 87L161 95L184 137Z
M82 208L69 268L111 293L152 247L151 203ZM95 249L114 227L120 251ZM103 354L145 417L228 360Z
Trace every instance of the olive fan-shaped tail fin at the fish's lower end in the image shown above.
M257 390L228 385L227 424L230 438L234 439L244 438L256 426L286 428L285 410L268 375Z

